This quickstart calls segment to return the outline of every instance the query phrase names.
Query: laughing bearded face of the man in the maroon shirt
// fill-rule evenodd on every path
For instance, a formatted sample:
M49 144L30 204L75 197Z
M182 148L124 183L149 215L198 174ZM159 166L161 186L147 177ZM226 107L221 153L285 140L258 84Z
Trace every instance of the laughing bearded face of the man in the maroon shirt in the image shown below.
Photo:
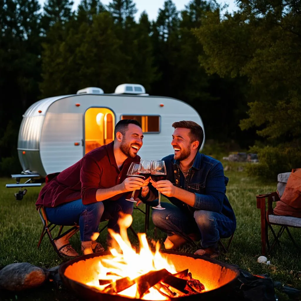
M142 147L142 139L142 129L139 126L130 123L120 144L120 149L123 154L127 157L135 158L139 149Z

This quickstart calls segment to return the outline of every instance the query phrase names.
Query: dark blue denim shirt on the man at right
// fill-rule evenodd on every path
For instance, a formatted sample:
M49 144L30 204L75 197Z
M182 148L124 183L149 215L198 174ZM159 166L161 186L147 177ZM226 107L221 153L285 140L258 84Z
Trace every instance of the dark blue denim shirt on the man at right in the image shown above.
M178 160L174 160L173 157L172 154L162 159L166 166L166 180L177 187L193 192L195 203L191 207L175 197L166 198L187 213L193 214L195 210L214 211L224 214L236 224L234 211L225 194L229 179L224 175L222 163L198 152L185 178ZM152 191L155 192L153 189ZM156 194L158 194L157 190Z

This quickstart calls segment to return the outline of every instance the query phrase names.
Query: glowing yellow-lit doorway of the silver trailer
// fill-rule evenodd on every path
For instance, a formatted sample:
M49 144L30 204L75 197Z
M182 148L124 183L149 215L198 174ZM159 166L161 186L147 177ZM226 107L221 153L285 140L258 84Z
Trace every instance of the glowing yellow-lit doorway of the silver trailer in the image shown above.
M115 116L108 108L92 107L85 112L85 154L114 139Z

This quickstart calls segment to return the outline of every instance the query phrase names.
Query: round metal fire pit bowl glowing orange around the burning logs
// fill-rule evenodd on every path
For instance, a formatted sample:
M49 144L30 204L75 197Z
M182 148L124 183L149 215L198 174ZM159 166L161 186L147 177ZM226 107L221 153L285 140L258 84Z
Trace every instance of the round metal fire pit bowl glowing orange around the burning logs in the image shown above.
M223 298L225 294L234 289L239 271L236 267L227 263L219 262L211 258L202 258L197 255L176 252L160 252L163 257L172 263L177 271L189 269L194 279L200 280L205 286L205 291L200 294L172 298L175 300L214 300ZM59 273L63 283L84 299L99 301L129 301L130 297L118 294L102 293L94 287L84 283L95 278L96 267L99 258L106 256L111 258L110 252L94 253L80 256L63 263ZM96 276L97 277L97 276ZM141 300L141 299L136 299Z

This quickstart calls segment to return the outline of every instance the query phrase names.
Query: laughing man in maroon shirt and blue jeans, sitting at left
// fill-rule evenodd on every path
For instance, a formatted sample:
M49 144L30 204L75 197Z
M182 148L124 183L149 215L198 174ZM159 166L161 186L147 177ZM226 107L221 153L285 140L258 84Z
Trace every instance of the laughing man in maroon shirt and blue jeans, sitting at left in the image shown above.
M119 232L119 212L132 214L133 203L125 200L130 191L144 189L149 179L127 178L132 162L140 162L137 152L142 147L142 129L136 120L124 119L115 127L115 140L95 148L81 160L63 170L40 191L36 206L44 206L48 220L57 225L79 225L81 250L84 254L103 251L98 237L98 224L109 220L108 228ZM145 188L144 188L145 187ZM69 243L69 233L55 241L62 255L78 256ZM110 246L113 239L108 234Z

